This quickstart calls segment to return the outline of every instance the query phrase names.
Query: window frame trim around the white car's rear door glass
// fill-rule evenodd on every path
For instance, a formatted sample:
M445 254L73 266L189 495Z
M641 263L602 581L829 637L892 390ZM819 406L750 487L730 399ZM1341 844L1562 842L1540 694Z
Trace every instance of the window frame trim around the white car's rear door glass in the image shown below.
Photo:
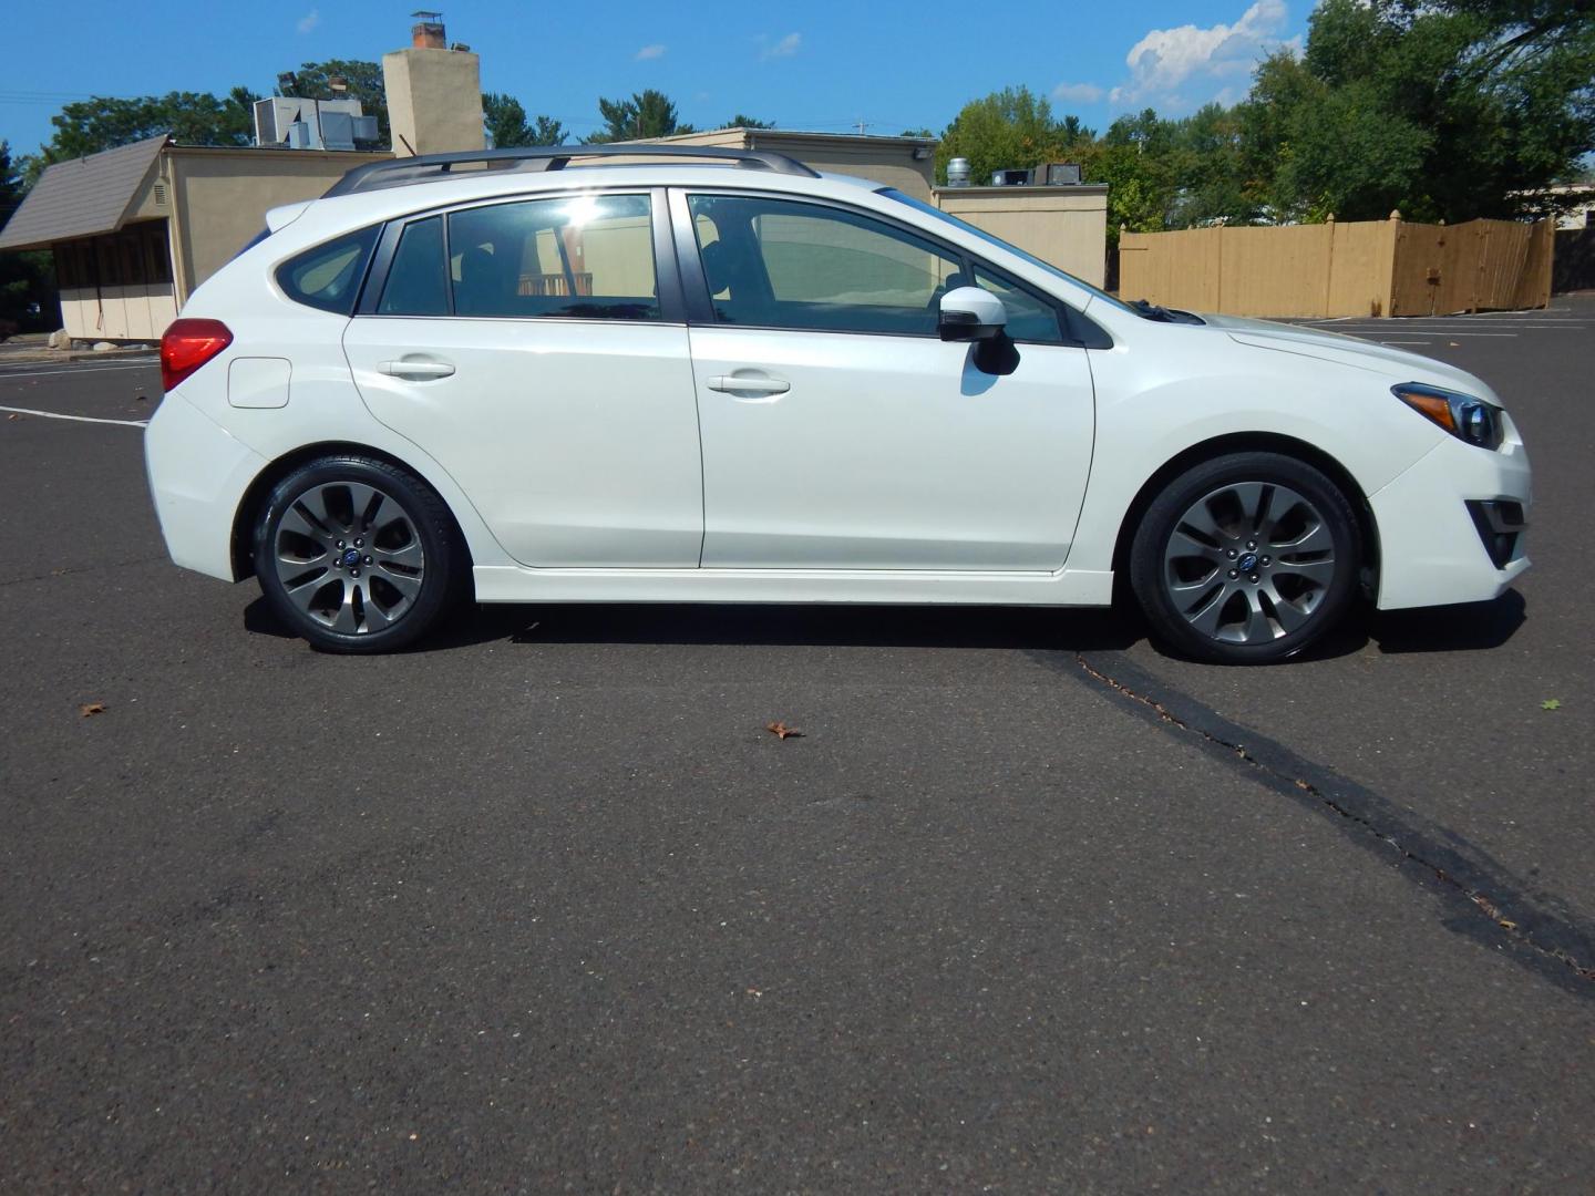
M419 220L431 220L434 215L443 217L443 277L448 279L448 263L453 260L448 244L448 217L455 212L475 212L488 207L502 207L506 204L525 204L539 199L569 199L574 196L593 196L598 199L609 196L644 196L649 201L648 220L649 230L652 233L654 247L654 287L659 298L659 317L657 319L630 319L625 316L458 316L455 314L455 289L450 285L448 290L448 314L447 316L400 316L397 313L381 313L376 306L381 303L383 287L388 285L388 273L392 268L394 254L399 250L399 238L404 236L404 230ZM681 325L686 324L686 316L683 311L681 300L681 276L676 265L675 246L670 236L670 207L668 198L664 187L614 187L614 188L582 188L568 191L525 191L520 195L501 195L493 196L488 201L482 199L464 199L453 204L437 204L434 207L426 207L418 212L407 212L405 215L394 217L383 228L383 234L376 242L376 252L372 255L370 269L365 273L365 285L360 290L360 300L354 306L354 316L362 319L381 319L381 321L506 321L514 324L541 324L547 321L557 321L560 324L627 324L627 325Z

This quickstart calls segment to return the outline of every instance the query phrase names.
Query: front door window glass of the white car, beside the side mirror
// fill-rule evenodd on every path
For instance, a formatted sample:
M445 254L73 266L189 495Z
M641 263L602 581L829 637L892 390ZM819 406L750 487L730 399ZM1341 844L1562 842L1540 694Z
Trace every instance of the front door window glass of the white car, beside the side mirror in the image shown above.
M689 198L699 254L726 324L936 335L959 262L912 233L817 204Z

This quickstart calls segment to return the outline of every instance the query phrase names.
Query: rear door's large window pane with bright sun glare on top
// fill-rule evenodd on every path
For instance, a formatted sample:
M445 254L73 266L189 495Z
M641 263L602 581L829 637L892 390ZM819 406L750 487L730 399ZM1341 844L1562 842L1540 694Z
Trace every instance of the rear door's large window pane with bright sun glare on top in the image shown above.
M646 195L560 196L448 217L456 316L659 319Z

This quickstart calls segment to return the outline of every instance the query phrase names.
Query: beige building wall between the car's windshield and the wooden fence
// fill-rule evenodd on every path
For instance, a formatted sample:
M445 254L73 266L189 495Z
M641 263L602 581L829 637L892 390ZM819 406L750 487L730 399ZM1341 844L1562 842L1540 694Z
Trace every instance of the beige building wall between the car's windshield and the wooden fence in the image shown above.
M1105 187L943 187L936 206L1075 277L1107 271Z

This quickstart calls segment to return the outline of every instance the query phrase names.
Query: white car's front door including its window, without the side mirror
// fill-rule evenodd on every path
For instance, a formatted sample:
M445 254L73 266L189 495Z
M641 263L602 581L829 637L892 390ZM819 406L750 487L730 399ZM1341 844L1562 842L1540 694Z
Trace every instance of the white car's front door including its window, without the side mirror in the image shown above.
M941 293L975 271L960 250L790 196L705 188L671 207L705 568L1062 566L1094 405L1050 300L1008 284L1021 360L995 376L938 336Z

